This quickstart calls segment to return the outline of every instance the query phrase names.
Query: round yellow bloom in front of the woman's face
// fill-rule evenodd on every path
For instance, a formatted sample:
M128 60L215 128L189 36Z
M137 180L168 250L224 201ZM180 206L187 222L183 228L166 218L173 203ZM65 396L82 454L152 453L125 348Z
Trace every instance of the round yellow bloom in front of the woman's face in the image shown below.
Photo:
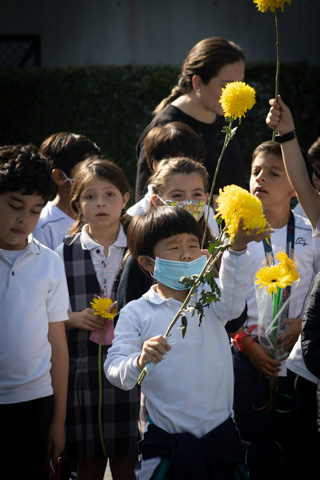
M244 82L230 82L222 89L219 102L224 111L225 117L234 119L245 116L256 103L254 88Z

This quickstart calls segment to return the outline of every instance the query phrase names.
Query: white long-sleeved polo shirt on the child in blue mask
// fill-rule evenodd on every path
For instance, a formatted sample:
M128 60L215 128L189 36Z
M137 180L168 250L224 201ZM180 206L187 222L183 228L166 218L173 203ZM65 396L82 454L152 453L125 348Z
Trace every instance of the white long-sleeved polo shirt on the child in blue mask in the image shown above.
M172 349L142 382L148 414L166 432L192 432L200 438L232 416L233 367L224 325L242 313L249 278L248 253L225 252L217 280L220 301L206 307L200 326L196 315L186 314L184 338L181 321L177 322L170 334ZM143 343L164 335L180 307L180 302L164 299L152 286L121 310L104 365L113 385L133 388L141 373L137 359Z

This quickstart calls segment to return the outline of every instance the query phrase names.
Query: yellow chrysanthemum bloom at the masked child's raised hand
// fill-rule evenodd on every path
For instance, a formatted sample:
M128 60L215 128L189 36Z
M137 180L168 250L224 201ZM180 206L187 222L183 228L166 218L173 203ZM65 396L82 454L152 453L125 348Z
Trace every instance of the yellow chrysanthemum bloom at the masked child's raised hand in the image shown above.
M248 233L256 227L259 227L259 233L267 228L262 203L244 188L227 185L223 190L220 189L216 201L218 204L216 217L220 216L225 221L231 242L238 230L241 217L243 228Z

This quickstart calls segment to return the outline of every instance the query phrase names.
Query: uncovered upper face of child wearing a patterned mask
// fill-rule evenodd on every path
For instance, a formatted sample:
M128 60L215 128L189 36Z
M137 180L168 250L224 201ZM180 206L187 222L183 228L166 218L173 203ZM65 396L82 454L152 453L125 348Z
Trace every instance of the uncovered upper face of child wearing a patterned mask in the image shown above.
M176 173L171 175L162 192L162 200L208 200L202 176L197 173ZM153 196L153 200L157 200ZM161 205L160 201L160 205Z

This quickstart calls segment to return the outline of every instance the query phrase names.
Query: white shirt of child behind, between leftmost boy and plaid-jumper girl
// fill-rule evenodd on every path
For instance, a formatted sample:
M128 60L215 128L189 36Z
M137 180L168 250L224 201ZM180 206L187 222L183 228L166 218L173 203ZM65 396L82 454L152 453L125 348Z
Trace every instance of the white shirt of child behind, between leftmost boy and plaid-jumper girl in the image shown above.
M64 237L69 234L73 224L73 218L52 202L48 202L42 209L33 236L46 247L55 250L63 242Z

